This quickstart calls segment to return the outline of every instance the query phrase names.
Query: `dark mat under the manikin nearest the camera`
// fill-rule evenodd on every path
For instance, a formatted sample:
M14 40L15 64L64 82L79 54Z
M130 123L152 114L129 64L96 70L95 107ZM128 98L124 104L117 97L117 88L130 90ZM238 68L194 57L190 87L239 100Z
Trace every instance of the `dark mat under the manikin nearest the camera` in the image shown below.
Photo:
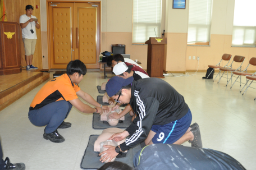
M103 166L104 163L100 162L100 157L98 156L99 152L93 151L94 142L97 140L99 135L90 135L89 142L87 148L85 149L84 156L81 160L80 167L81 169L98 169ZM129 149L126 157L124 158L116 158L116 161L124 162L131 167L133 166L133 158L134 155L141 149L140 145L135 146L132 149Z

